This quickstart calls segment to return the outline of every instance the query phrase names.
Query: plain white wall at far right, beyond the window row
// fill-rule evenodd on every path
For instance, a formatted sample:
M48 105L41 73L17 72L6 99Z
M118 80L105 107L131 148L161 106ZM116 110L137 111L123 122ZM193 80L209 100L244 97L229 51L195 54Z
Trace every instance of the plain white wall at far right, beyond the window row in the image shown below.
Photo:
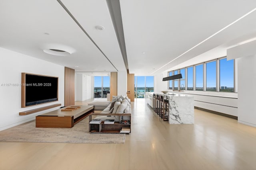
M256 57L238 61L238 122L256 127Z

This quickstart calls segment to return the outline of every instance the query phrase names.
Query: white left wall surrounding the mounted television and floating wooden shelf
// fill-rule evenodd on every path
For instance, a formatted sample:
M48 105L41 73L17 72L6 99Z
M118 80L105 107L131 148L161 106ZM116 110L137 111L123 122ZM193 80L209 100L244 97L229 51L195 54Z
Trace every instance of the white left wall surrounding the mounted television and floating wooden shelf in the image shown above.
M64 66L36 59L4 48L0 48L0 56L0 130L33 120L36 115L58 109L59 107L25 116L19 115L19 112L21 111L36 109L52 104L62 104L62 106L64 106ZM57 76L59 81L58 101L21 108L21 86L3 86L3 84L20 84L22 72Z

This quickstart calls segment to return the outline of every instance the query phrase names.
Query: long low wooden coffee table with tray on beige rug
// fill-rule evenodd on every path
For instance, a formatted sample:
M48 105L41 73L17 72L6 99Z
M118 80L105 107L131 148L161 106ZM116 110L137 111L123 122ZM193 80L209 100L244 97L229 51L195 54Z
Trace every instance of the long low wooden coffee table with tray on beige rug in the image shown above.
M74 124L94 112L94 106L79 106L80 108L72 111L62 111L62 109L72 107L67 106L38 115L36 116L36 127L73 127Z

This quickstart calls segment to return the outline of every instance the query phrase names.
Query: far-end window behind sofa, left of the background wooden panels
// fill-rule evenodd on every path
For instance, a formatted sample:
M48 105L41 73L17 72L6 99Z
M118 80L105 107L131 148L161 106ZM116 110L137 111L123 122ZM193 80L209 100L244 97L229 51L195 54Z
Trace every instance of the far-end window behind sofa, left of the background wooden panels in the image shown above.
M94 98L107 98L110 93L110 77L94 76Z

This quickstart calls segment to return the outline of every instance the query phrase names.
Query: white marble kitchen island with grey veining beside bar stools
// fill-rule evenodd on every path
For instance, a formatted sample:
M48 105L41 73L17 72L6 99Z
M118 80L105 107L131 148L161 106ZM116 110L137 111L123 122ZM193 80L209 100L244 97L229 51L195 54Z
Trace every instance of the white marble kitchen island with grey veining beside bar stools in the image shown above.
M194 124L194 97L175 92L154 92L169 100L170 124Z

